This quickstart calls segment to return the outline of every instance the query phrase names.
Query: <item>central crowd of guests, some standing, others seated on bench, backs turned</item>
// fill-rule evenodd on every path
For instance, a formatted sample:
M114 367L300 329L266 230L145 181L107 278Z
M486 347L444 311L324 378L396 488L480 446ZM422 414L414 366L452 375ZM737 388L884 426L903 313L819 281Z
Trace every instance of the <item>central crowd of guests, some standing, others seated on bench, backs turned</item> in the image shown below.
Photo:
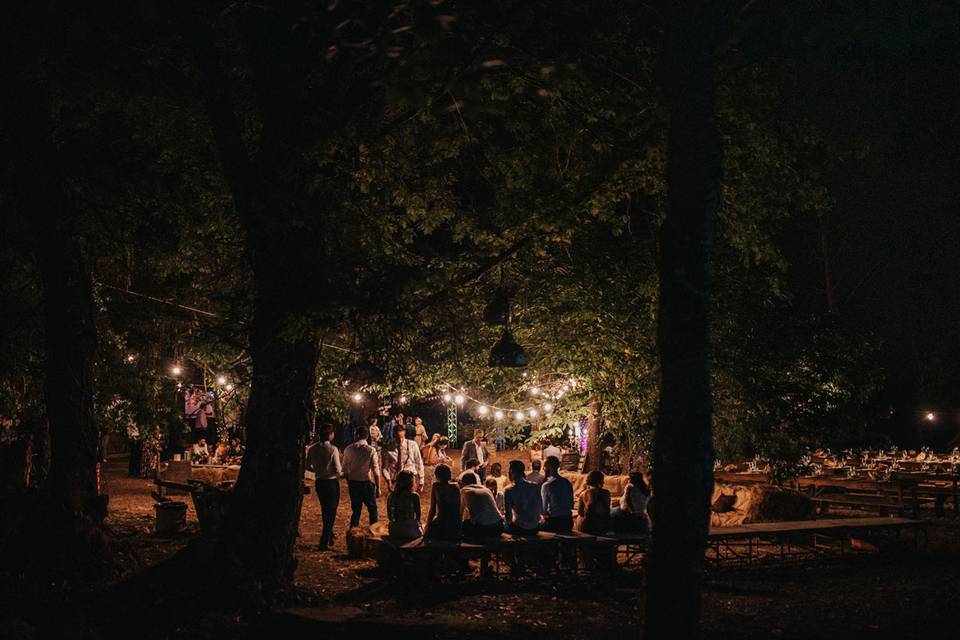
M307 451L307 468L316 475L322 512L321 549L329 549L334 542L340 477L347 481L350 527L359 526L364 508L371 525L379 521L377 497L386 488L388 533L399 538L456 540L503 532L532 535L574 530L603 535L644 532L650 527L650 491L640 473L630 475L623 495L613 505L610 491L603 488L604 474L593 471L575 504L573 485L560 474L560 457L549 449L544 449L542 465L532 461L529 473L523 461L511 460L504 477L501 465L491 463L483 431L477 430L463 445L460 473L455 477L446 439L435 435L428 440L425 433L418 439L416 431L401 428L404 424L400 420L390 429L374 422L370 428L358 427L342 455L333 444L333 429L326 428L320 442ZM379 433L371 434L373 428ZM420 496L427 487L430 502L422 525Z

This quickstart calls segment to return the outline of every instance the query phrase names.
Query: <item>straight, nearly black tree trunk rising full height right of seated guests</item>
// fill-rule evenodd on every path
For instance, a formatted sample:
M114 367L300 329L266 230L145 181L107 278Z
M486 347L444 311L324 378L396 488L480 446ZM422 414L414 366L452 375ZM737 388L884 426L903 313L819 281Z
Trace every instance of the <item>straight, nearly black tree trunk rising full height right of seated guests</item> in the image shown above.
M670 109L669 195L660 237L661 388L646 607L651 639L700 635L713 489L709 275L721 171L715 12L710 2L674 3L662 69Z

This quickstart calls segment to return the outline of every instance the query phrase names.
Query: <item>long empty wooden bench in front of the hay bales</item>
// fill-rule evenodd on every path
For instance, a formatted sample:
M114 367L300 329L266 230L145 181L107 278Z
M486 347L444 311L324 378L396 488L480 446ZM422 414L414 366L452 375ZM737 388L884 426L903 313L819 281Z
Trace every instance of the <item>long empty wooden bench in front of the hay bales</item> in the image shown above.
M743 565L757 562L803 561L835 553L843 557L865 535L913 534L914 548L926 546L926 525L914 518L835 518L760 522L735 527L711 527L707 536L708 563Z

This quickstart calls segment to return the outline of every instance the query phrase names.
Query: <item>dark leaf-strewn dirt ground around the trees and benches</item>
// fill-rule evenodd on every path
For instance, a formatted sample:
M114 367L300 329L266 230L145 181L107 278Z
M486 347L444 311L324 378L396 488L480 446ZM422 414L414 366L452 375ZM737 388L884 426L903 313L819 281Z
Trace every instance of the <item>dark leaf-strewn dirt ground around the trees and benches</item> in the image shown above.
M126 576L83 585L86 602L117 582L171 556L196 535L192 504L188 531L153 532L154 485L127 478L123 460L104 466L110 495L108 525L114 540L138 560ZM381 513L385 505L381 498ZM60 637L285 638L308 635L366 638L554 638L625 640L642 636L644 585L640 571L610 579L564 578L485 584L411 585L382 580L371 560L346 556L349 501L344 487L334 549L316 549L320 509L305 496L297 544L295 588L284 604L257 612L157 611L136 629L85 633L81 620L11 624L16 593L0 593L0 640ZM364 512L363 522L367 516ZM932 520L925 551L873 553L801 567L723 569L708 572L704 590L706 638L935 638L960 637L960 520ZM189 576L184 577L189 580ZM4 591L11 588L5 582ZM59 590L59 591L58 591ZM70 588L51 585L58 597ZM28 589L36 593L35 589ZM112 593L115 593L112 592ZM160 607L158 607L160 608ZM8 609L4 611L4 609ZM81 607L82 609L82 607ZM80 616L82 611L74 613ZM23 614L24 617L29 617ZM3 618L6 623L3 623ZM175 619L171 623L170 619ZM18 635L19 634L19 635Z

